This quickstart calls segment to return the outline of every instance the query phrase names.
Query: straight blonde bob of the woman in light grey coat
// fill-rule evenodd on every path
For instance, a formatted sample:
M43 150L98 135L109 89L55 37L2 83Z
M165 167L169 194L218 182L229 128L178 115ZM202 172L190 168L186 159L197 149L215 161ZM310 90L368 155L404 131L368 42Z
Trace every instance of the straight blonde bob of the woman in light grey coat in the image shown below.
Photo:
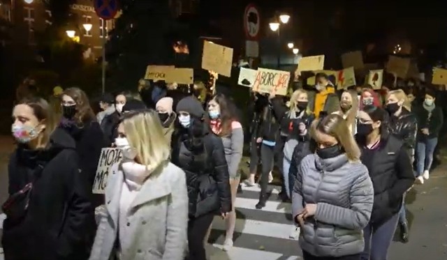
M149 109L129 112L124 115L122 124L140 164L150 170L168 162L170 147L156 112Z

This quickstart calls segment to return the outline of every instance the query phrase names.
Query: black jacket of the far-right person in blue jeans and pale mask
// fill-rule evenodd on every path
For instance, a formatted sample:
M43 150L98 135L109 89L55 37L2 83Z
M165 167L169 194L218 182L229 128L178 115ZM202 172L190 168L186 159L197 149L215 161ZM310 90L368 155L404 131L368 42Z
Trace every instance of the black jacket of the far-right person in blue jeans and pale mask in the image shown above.
M432 139L439 136L442 125L444 123L444 114L441 107L434 107L433 111L429 113L423 106L415 109L414 114L418 119L418 141L425 139ZM421 131L423 128L428 128L429 135L424 135Z

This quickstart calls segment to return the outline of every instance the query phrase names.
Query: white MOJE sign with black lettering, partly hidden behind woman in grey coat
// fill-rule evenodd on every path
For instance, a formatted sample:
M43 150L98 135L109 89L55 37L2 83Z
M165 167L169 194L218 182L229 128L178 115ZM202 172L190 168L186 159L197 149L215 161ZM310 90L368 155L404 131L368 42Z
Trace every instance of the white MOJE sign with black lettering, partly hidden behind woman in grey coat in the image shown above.
M122 160L122 151L119 148L103 148L99 157L98 167L96 168L96 176L93 183L94 194L104 194L105 186L112 165Z

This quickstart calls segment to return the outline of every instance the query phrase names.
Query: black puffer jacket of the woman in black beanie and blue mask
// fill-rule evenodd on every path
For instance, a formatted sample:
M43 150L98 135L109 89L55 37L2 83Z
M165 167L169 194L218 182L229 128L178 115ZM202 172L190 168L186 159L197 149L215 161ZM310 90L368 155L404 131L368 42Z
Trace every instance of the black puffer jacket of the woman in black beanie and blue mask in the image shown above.
M207 128L202 122L196 127ZM222 140L205 129L191 142L193 134L189 131L180 128L175 132L171 158L186 174L189 216L228 213L231 211L230 177Z

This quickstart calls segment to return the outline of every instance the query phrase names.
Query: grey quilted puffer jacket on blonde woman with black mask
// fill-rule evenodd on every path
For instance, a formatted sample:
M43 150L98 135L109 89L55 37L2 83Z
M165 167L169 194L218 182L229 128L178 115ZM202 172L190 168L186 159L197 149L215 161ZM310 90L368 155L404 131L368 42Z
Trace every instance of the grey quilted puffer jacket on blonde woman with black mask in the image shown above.
M345 154L325 160L307 155L298 166L293 188L293 219L306 204L316 204L316 213L301 227L300 247L315 257L362 252L362 229L369 222L373 202L365 165L349 162Z

